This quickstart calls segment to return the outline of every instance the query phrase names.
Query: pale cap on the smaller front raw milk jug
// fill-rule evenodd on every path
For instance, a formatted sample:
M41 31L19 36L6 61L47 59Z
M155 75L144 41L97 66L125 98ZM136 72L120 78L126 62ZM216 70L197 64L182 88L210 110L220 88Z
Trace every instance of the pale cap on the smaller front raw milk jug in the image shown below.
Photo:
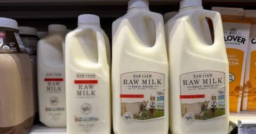
M97 24L100 26L100 18L93 14L81 14L78 16L78 26L83 24Z

